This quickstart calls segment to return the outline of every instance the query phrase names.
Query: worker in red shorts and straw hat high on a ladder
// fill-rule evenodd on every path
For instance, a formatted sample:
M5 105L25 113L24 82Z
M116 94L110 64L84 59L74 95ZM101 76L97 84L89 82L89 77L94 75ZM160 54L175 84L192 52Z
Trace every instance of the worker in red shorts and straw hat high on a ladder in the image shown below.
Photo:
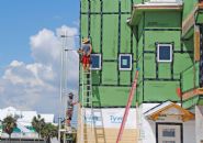
M92 52L92 46L90 38L82 40L82 47L79 48L78 53L82 55L81 62L83 65L83 70L88 72L90 69L90 55Z

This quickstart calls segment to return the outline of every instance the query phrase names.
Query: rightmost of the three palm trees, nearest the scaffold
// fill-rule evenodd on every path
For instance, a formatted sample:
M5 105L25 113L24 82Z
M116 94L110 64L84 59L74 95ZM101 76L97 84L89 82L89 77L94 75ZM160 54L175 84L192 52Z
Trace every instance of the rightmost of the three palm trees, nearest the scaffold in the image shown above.
M42 138L44 138L47 143L50 143L50 139L56 138L57 134L57 127L53 125L52 123L46 123L42 130Z

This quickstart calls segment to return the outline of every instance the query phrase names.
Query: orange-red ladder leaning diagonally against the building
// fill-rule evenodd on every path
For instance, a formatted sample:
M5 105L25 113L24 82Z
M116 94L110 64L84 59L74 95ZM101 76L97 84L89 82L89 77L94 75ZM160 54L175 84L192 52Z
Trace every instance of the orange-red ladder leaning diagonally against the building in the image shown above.
M128 116L129 108L131 108L131 105L132 105L132 101L133 101L133 98L134 98L135 89L136 89L136 86L137 86L137 79L138 79L138 68L135 73L134 81L133 81L133 85L132 85L132 88L131 88L131 91L129 91L129 97L128 97L128 100L127 100L127 105L125 107L125 112L124 112L122 124L120 127L120 131L119 131L119 134L117 134L116 143L119 143L121 141L122 135L123 135L123 130L124 130L125 123L127 121L127 116Z

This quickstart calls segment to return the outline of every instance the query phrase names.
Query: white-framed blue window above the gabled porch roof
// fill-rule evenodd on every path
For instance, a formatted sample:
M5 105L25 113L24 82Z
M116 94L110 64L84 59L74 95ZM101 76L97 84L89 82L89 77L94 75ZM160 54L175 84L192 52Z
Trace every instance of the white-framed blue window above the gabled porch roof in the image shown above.
M172 62L172 44L157 44L157 62Z

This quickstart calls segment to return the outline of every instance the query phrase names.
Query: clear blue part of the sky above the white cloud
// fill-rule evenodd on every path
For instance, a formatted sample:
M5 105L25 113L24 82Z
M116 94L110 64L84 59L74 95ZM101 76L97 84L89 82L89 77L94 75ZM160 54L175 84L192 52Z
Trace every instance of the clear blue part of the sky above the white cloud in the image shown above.
M46 28L77 26L79 0L1 0L0 67L11 61L32 62L29 38Z

